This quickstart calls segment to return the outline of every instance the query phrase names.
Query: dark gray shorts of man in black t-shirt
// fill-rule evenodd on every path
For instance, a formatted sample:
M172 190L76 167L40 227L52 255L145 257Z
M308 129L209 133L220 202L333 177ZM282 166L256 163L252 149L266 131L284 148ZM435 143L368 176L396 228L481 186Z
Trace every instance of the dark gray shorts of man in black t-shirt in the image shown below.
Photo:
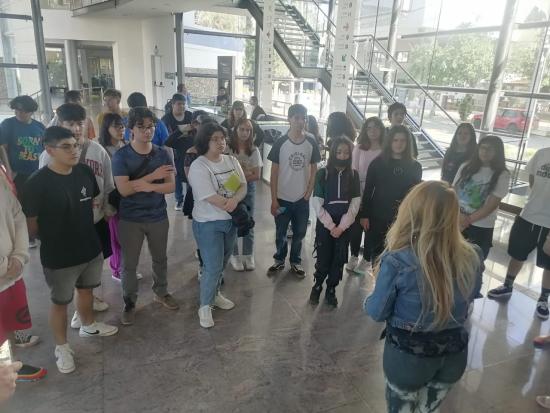
M93 289L101 285L103 254L74 267L52 270L44 267L50 299L54 304L65 305L73 301L74 289Z

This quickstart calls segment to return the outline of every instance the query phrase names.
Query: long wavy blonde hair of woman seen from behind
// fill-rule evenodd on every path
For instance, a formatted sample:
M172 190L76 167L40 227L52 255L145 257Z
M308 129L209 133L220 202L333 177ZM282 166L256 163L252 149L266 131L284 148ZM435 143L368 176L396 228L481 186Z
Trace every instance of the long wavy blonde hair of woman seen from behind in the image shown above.
M470 297L480 266L479 255L460 232L459 213L449 184L425 181L405 197L386 237L385 251L411 248L418 258L422 315L433 312L436 329L452 318L455 294Z

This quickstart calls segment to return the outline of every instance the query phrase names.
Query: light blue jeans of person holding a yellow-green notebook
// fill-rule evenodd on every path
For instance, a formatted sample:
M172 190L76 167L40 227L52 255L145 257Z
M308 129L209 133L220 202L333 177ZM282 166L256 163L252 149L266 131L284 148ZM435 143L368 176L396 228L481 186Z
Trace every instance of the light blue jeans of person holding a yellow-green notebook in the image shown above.
M223 269L233 252L237 228L228 220L198 222L193 220L193 234L203 266L200 281L200 303L211 305L218 292Z

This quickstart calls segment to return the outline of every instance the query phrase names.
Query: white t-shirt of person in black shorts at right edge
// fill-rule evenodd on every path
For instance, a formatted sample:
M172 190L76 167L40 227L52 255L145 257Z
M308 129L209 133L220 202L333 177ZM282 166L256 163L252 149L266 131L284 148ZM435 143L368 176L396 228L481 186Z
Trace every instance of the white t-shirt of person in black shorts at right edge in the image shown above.
M550 228L550 148L539 149L526 171L535 182L520 216L531 224Z

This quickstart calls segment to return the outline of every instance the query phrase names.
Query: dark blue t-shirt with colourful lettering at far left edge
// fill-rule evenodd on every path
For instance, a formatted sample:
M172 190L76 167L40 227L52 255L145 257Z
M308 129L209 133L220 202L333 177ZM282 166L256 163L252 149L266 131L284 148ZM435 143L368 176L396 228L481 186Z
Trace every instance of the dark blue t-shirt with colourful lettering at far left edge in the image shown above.
M30 175L38 169L38 158L44 150L44 130L44 125L34 119L31 123L22 123L13 117L0 124L0 145L8 146L14 172Z

